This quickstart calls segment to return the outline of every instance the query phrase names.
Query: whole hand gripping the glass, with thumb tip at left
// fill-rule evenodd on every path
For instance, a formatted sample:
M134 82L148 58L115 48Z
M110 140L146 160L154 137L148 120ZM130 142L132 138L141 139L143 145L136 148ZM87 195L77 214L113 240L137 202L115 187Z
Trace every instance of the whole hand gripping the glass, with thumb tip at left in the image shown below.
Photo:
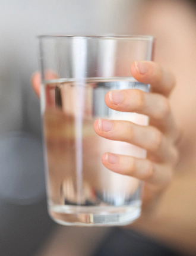
M151 92L137 89L110 91L105 96L105 102L113 110L148 115L150 125L139 126L129 121L107 120L112 127L107 132L103 129L105 120L96 120L94 130L103 138L124 141L147 149L146 159L106 152L102 162L109 170L144 180L143 202L153 202L152 199L158 198L172 180L179 158L176 148L179 130L168 99L175 79L152 61L133 63L131 73L138 82L150 83ZM39 96L39 73L33 75L32 85Z

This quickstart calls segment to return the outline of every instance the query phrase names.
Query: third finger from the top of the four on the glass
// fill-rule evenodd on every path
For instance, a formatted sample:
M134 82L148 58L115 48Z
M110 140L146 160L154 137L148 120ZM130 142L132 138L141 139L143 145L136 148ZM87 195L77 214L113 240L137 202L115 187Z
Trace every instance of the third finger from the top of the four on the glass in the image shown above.
M173 144L156 127L139 126L130 121L99 119L94 122L94 130L103 138L147 149L156 161L172 163L175 160Z

